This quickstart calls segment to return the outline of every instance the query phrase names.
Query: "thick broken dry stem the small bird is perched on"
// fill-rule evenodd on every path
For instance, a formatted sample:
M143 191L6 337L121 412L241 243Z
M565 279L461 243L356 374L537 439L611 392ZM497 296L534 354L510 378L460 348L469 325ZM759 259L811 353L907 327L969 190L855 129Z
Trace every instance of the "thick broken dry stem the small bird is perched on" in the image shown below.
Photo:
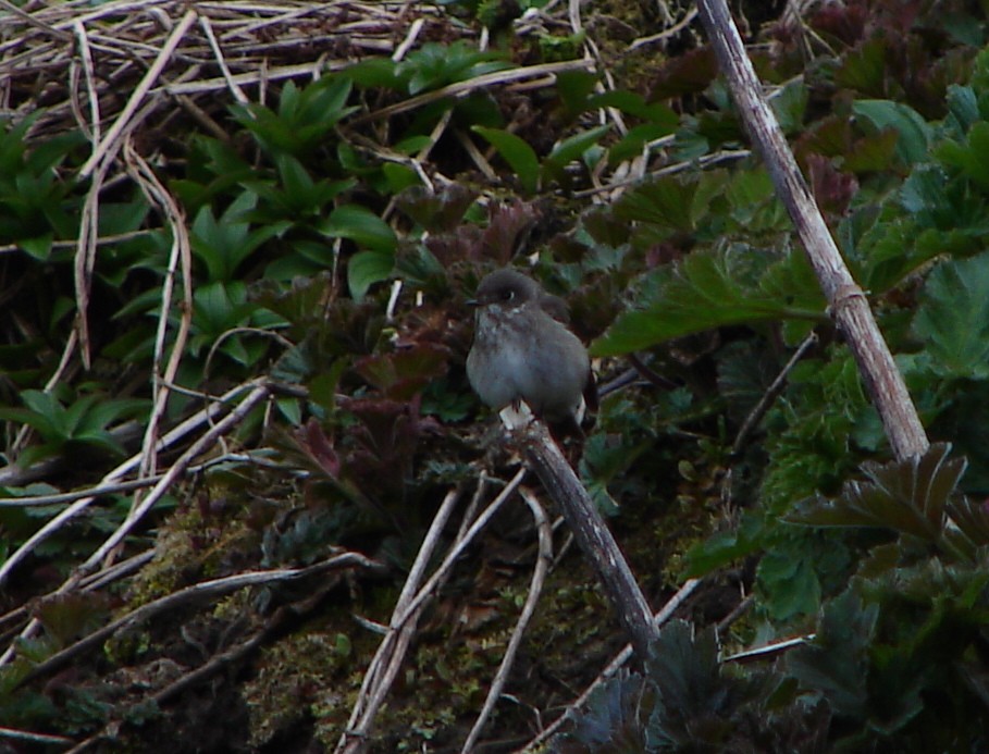
M658 635L648 602L588 491L543 423L531 421L531 411L524 404L522 406L522 422L517 423L518 415L512 415L511 407L502 411L502 418L516 435L546 492L559 506L584 557L597 572L635 654L645 660L650 643ZM528 422L526 415L530 419Z

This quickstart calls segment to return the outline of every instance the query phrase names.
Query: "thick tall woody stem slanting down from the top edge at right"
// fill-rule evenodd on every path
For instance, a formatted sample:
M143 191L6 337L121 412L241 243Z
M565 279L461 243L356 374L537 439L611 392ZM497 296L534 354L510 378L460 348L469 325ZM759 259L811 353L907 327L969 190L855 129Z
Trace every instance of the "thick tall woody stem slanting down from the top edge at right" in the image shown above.
M742 121L790 212L831 314L858 363L893 454L904 459L925 453L929 445L927 435L903 378L873 319L865 294L841 259L787 139L766 104L728 5L725 0L697 0L697 9Z

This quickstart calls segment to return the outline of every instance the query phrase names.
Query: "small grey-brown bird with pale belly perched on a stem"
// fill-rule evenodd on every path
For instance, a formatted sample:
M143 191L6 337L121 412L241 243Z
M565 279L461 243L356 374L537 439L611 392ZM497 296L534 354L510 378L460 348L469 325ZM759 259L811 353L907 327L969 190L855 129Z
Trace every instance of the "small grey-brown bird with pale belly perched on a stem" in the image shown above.
M567 327L564 300L514 268L478 286L467 378L495 411L524 400L555 437L582 434L596 386L583 343Z

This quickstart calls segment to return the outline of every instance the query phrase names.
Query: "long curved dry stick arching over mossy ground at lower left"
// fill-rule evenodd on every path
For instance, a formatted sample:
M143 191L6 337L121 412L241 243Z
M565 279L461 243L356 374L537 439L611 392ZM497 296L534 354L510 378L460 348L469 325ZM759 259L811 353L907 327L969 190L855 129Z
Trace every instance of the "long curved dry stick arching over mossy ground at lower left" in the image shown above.
M258 584L270 584L279 581L289 581L293 579L299 579L309 576L316 576L318 573L325 573L331 570L336 570L338 568L347 568L360 566L368 569L383 570L384 566L376 560L372 560L359 553L344 553L342 555L336 555L327 560L322 563L308 566L306 568L282 568L270 571L252 571L248 573L237 573L236 576L227 576L221 579L212 579L210 581L203 581L198 584L193 584L191 586L186 586L177 592L173 592L164 597L160 597L153 602L149 602L146 605L141 605L135 610L132 610L125 616L118 618L116 620L107 623L100 629L97 629L88 636L85 636L74 644L66 646L64 650L57 652L48 659L39 663L20 681L17 681L16 687L22 687L36 678L46 676L54 670L58 670L63 665L77 657L81 654L85 654L89 650L99 646L104 640L109 639L116 631L121 629L136 626L138 623L153 618L157 615L174 610L178 607L188 604L195 604L203 600L215 598L232 592L236 592L246 586L255 586Z

